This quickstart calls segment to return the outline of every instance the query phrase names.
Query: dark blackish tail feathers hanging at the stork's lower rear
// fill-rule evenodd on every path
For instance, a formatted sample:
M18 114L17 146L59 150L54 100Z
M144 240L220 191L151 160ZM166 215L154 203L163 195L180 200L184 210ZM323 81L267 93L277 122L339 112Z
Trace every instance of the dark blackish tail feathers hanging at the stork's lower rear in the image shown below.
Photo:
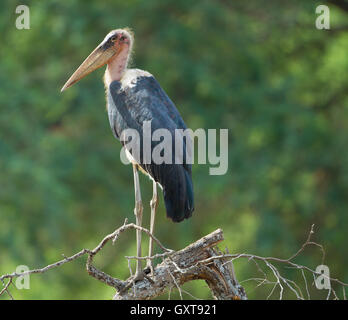
M171 179L162 184L168 218L180 222L191 217L194 210L191 174L182 166L172 167Z

